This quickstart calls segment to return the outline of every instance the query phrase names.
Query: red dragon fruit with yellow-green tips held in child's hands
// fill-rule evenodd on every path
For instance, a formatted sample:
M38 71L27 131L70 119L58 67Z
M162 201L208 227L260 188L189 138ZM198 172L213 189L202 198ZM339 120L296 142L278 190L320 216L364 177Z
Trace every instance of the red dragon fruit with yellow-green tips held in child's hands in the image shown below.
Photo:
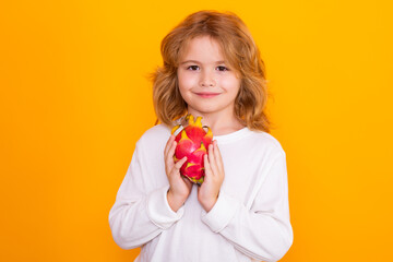
M202 127L202 117L188 115L188 126L184 127L175 138L177 146L175 150L175 163L187 156L187 162L181 166L180 174L190 181L202 184L204 174L203 157L207 154L209 145L212 143L213 133L207 126ZM181 124L171 130L171 134L179 130ZM204 130L207 129L207 132Z

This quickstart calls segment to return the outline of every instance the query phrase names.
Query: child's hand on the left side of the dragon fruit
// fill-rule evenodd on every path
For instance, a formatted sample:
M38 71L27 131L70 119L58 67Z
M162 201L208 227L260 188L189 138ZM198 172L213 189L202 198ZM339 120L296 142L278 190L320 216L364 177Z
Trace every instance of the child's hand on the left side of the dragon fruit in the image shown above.
M192 188L192 182L180 175L180 167L186 163L187 156L177 163L174 160L176 145L175 135L170 135L164 150L165 172L169 181L167 198L170 209L175 212L186 202Z

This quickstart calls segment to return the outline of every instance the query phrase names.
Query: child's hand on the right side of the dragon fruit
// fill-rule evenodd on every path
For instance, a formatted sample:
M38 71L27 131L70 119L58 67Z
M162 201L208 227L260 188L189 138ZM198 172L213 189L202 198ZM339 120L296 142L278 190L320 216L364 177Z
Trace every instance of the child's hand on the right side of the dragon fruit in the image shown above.
M225 176L223 158L216 140L209 145L209 156L204 155L204 168L205 177L202 186L198 188L198 201L206 212L210 212L217 202Z

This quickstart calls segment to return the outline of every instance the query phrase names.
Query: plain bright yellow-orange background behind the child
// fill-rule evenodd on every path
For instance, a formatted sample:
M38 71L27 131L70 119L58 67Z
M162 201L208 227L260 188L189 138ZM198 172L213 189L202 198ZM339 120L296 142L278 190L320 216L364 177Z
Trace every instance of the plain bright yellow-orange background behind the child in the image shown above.
M138 2L0 3L0 261L138 254L108 213L155 122L159 43L201 9L236 12L266 63L295 234L282 261L393 261L391 1Z

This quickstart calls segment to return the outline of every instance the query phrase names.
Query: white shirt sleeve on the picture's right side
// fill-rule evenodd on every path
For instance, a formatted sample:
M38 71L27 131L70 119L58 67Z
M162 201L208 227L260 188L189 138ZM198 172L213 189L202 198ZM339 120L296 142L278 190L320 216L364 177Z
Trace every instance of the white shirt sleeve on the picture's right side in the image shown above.
M286 157L275 157L250 209L240 200L219 192L213 209L202 221L246 255L278 261L293 243L289 222Z

